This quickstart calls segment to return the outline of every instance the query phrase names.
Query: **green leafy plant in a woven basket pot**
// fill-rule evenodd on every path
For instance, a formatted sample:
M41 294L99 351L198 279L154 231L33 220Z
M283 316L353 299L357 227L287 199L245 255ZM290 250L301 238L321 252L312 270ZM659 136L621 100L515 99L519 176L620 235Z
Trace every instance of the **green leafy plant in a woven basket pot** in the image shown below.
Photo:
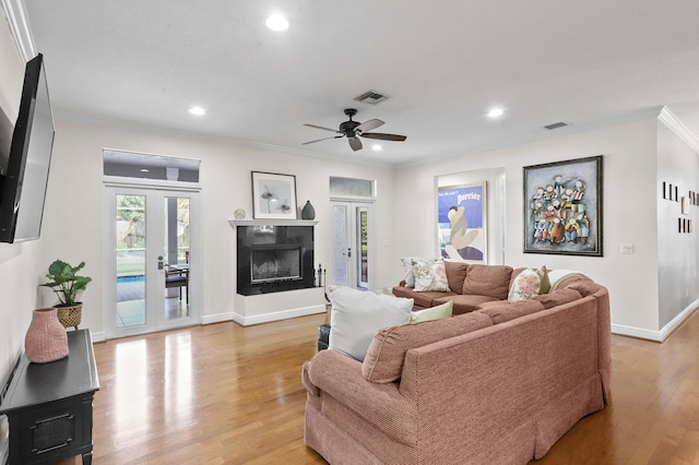
M60 303L56 308L58 309L58 319L63 327L73 326L78 330L82 319L83 303L76 301L78 293L84 290L87 283L92 281L92 277L78 275L78 272L83 267L85 267L85 262L72 266L61 260L56 260L49 265L46 274L49 282L42 284L44 287L51 288L58 296Z

